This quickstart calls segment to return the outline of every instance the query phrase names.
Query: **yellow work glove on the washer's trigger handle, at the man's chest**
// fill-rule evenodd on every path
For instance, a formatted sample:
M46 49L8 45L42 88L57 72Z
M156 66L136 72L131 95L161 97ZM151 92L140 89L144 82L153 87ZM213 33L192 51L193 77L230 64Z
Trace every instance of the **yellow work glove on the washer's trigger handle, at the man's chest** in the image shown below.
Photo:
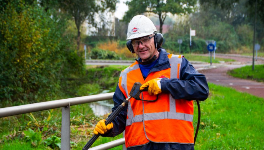
M142 86L140 86L140 90L144 90L144 88L146 88L147 86L149 87L147 90L149 95L158 95L159 93L161 93L160 79L157 78L147 81Z

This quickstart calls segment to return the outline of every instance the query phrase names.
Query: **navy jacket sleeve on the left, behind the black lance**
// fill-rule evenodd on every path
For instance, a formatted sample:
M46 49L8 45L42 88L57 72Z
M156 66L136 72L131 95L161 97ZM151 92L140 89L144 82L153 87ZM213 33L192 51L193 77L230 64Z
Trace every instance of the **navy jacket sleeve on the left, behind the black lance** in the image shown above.
M123 100L126 99L124 94L119 89L119 86L117 84L117 88L114 92L113 101L114 101L114 107L112 108L112 112L117 109L119 105L123 103ZM108 116L108 118L112 115L112 113ZM119 135L122 133L126 128L126 116L127 116L127 105L120 111L120 113L117 115L117 117L112 121L114 124L114 127L109 132L103 134L103 137L114 137L116 135Z

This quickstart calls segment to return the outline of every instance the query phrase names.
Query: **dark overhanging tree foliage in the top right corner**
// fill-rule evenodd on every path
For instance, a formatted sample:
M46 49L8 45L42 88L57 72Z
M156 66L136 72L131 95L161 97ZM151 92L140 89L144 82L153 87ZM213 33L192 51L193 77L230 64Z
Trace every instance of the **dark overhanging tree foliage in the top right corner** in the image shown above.
M255 18L255 4L257 1L257 24L256 24L256 38L258 42L264 42L264 11L262 10L264 0L200 0L201 6L208 8L212 6L215 9L221 9L226 12L227 20L231 20L232 25L236 29L242 28L243 25L250 25L251 27L243 26L244 29L253 29ZM239 31L240 32L240 31ZM241 33L241 32L240 32ZM249 33L249 32L246 32ZM244 43L243 43L244 44Z

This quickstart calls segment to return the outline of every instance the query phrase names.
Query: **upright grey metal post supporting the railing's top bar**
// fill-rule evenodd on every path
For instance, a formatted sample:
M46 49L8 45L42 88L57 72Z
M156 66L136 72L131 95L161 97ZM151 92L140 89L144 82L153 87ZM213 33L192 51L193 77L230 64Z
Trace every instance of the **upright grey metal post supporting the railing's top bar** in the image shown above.
M61 113L61 150L71 149L71 128L70 128L70 104L62 107Z

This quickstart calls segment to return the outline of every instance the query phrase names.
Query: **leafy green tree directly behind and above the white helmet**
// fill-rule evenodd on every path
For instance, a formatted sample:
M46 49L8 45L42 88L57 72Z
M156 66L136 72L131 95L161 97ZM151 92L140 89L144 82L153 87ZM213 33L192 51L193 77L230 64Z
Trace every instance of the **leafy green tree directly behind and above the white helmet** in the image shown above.
M129 22L134 15L145 12L154 13L159 16L159 32L162 33L162 25L168 13L187 14L194 10L196 0L132 0L126 2L128 11L124 15L124 21Z

